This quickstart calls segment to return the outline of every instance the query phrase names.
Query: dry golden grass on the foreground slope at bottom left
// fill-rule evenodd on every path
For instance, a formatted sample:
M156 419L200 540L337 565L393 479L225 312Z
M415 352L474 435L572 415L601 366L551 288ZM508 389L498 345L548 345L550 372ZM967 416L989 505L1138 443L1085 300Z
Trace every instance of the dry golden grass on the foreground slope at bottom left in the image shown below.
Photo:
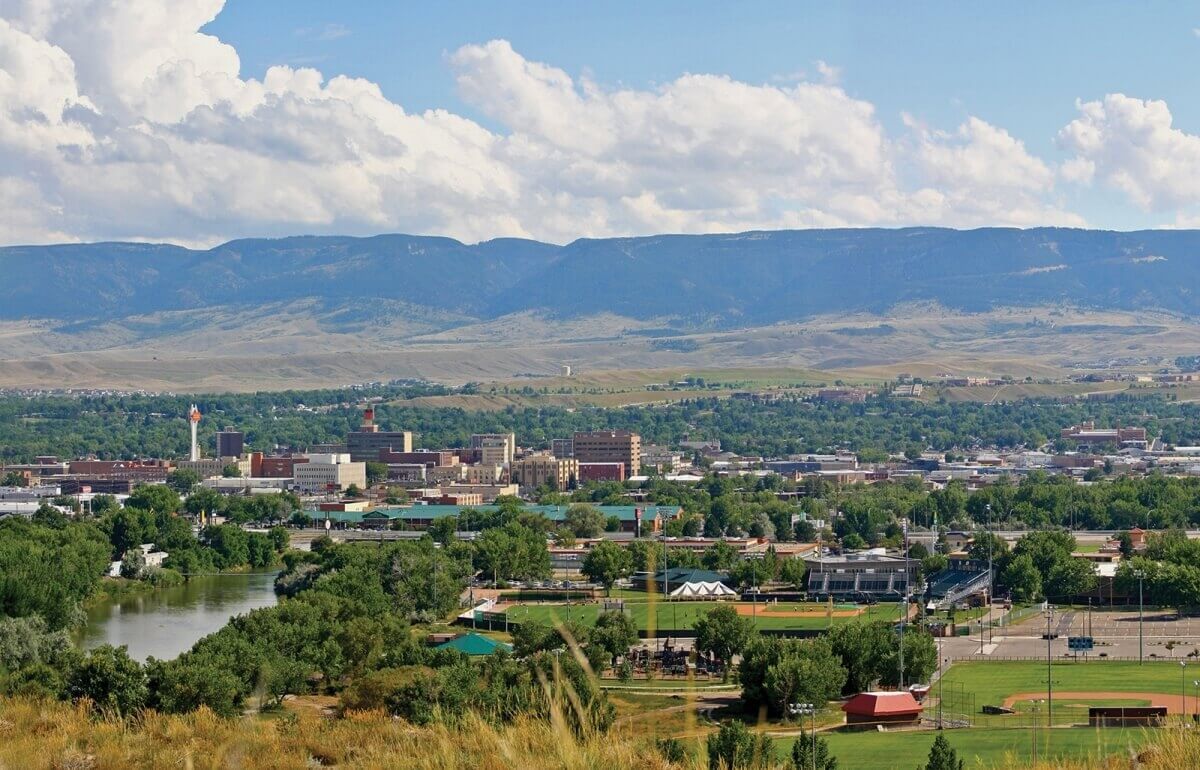
M496 727L468 718L458 727L414 727L383 712L320 718L222 720L208 710L185 716L92 718L85 706L0 700L4 770L125 768L414 768L419 770L619 770L671 768L644 741L592 734L576 738L562 720Z

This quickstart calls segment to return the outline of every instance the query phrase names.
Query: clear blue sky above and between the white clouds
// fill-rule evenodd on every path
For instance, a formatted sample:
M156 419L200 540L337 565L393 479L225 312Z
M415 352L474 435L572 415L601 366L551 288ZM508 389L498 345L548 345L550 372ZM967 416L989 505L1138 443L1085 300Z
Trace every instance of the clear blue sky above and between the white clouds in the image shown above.
M290 62L368 78L409 109L448 108L487 124L455 91L449 52L492 38L611 86L653 88L685 72L773 83L817 61L878 108L892 130L911 113L953 126L1003 126L1045 158L1075 100L1109 92L1165 100L1200 131L1200 6L1187 2L232 2L208 30L235 44L247 74ZM288 19L290 35L280 34ZM332 35L322 35L331 31ZM1160 217L1080 191L1100 227Z

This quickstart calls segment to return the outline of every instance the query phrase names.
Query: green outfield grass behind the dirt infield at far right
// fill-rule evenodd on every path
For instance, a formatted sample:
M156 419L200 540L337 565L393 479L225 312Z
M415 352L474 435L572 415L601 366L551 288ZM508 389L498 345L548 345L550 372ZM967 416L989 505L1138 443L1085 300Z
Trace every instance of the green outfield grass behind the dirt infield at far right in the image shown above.
M1051 667L1056 692L1180 692L1180 666L1176 662L1129 661L1055 662ZM942 686L947 690L961 684L966 693L974 693L976 709L1001 705L1006 697L1021 692L1044 692L1046 666L1034 662L967 662L954 663L946 673ZM1190 678L1188 680L1190 693ZM947 699L949 694L947 693Z

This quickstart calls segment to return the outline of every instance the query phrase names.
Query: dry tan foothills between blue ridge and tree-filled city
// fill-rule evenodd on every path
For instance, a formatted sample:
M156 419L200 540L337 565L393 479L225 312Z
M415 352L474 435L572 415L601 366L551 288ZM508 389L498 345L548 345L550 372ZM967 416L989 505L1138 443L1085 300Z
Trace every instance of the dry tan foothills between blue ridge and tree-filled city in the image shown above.
M564 396L604 397L610 402L605 405L619 405L678 397L673 393L721 392L649 390L688 375L744 390L811 387L836 379L877 383L901 372L926 380L946 374L1063 378L1080 371L1076 366L1115 356L1160 365L1200 344L1200 325L1189 319L1062 307L961 313L920 306L881 315L674 330L666 338L647 332L665 327L668 319L611 314L563 320L516 313L476 321L454 314L406 320L408 314L396 313L353 327L326 315L316 303L293 302L167 311L90 326L47 319L4 321L0 387L70 384L214 392L424 378L485 384L479 396L455 404L468 409L502 408L487 399L493 383L500 391L505 385L510 391L514 385L566 389ZM559 377L564 363L575 369L574 377ZM1000 398L1082 395L1117 386L1126 384L1022 384L1009 386L1012 392ZM958 389L946 397L989 401L994 391ZM1200 387L1171 392L1195 398ZM511 392L505 401L539 403Z

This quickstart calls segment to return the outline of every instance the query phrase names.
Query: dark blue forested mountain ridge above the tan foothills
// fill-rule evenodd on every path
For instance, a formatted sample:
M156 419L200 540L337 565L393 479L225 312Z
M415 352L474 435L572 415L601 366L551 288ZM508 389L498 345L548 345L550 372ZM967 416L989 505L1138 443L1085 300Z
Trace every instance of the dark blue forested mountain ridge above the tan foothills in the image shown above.
M314 300L329 311L494 319L612 313L737 327L934 302L1200 313L1200 231L1039 228L758 231L584 239L379 235L238 240L208 251L0 248L0 319L113 320Z

